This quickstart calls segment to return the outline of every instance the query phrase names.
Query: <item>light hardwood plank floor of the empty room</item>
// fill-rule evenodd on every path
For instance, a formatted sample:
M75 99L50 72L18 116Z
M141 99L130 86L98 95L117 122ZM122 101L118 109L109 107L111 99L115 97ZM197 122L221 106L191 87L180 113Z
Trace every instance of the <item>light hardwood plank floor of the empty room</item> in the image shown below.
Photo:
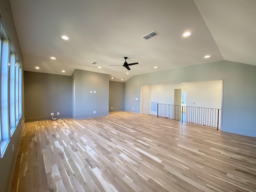
M256 192L256 138L130 112L30 122L11 191Z

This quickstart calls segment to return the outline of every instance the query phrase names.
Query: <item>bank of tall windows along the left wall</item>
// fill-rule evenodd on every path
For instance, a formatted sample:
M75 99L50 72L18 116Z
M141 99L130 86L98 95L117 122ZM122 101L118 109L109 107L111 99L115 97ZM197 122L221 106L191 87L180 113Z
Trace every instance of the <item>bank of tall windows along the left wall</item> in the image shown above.
M0 21L0 156L22 116L22 66Z

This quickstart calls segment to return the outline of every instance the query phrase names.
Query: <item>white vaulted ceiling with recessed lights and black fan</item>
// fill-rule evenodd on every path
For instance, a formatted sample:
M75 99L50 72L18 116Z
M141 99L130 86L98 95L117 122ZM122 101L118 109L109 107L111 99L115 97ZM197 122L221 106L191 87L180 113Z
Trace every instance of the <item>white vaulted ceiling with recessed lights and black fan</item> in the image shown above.
M10 0L10 4L27 71L71 76L74 69L82 69L125 82L138 74L219 60L256 65L256 0ZM153 30L159 35L141 38ZM191 35L184 38L187 31ZM64 34L68 41L62 40ZM206 59L207 54L211 57ZM130 71L109 66L122 65L124 56L128 63L139 64L130 66Z

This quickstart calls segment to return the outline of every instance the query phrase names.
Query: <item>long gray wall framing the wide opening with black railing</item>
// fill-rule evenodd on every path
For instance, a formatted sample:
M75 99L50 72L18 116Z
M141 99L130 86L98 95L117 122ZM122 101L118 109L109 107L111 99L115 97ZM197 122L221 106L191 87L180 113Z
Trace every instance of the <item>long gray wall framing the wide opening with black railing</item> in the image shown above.
M223 80L221 130L256 137L256 66L212 62L133 76L125 82L124 110L140 113L140 86ZM134 107L134 110L132 110Z

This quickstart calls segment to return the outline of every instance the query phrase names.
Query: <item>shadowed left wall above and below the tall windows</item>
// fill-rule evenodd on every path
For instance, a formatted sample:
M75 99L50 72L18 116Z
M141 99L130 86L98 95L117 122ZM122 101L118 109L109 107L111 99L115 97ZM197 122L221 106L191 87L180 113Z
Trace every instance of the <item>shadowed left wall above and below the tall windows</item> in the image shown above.
M6 26L8 36L12 42L12 45L16 51L16 54L20 62L23 63L22 52L20 49L18 36L14 26L14 22L12 18L12 10L10 7L9 0L1 0L0 15L1 15L2 21L4 22L4 25ZM22 84L23 84L23 79L22 79ZM22 90L22 95L24 95L24 90ZM23 98L24 97L22 97L22 117L20 118L20 122L16 126L16 129L12 134L12 137L10 138L10 141L8 143L4 156L0 158L0 192L10 190L10 182L12 179L14 163L16 160L16 155L18 152L19 144L20 144L20 134L22 132L22 121L24 120ZM12 145L14 146L14 151L12 151Z

